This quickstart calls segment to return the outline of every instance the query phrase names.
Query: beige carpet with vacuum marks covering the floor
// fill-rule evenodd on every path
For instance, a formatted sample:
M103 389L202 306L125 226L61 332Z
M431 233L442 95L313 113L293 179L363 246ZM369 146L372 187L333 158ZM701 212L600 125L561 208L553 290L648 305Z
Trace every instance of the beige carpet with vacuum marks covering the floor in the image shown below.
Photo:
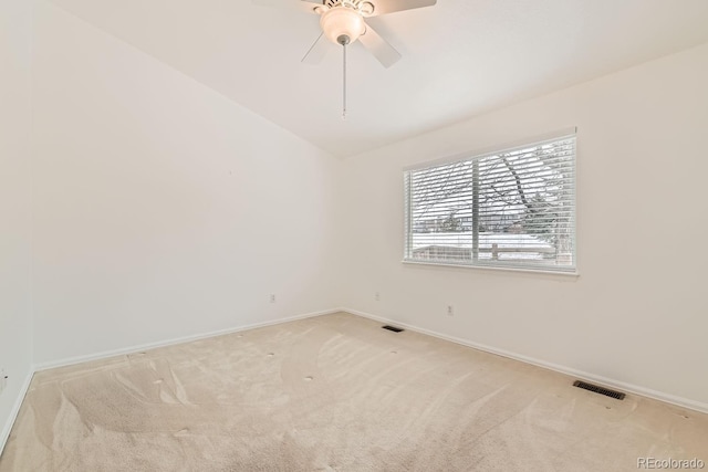
M635 471L708 416L348 314L38 374L0 471ZM708 470L708 465L706 465Z

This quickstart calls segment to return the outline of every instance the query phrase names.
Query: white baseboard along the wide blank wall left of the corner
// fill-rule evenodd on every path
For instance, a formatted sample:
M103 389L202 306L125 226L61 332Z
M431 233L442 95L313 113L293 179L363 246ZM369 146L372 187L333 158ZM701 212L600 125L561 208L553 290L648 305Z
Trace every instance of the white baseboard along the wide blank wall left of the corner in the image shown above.
M147 344L136 345L136 346L124 347L124 348L119 348L119 349L104 350L104 352L101 352L101 353L88 354L88 355L85 355L85 356L67 357L67 358L60 359L60 360L51 360L49 363L35 364L34 365L34 371L53 369L53 368L56 368L56 367L73 366L75 364L87 363L87 361L91 361L91 360L101 360L101 359L106 359L106 358L110 358L110 357L123 356L123 355L126 355L126 354L134 354L134 353L139 353L139 352L143 352L143 350L155 349L155 348L158 348L158 347L166 347L166 346L173 346L175 344L189 343L189 342L192 342L192 340L205 339L207 337L221 336L221 335L225 335L225 334L238 333L238 332L242 332L242 331L247 331L247 329L261 328L261 327L266 327L266 326L273 326L273 325L279 325L279 324L282 324L282 323L294 322L294 321L298 321L298 319L305 319L305 318L312 318L312 317L315 317L315 316L330 315L332 313L337 313L340 311L342 311L342 310L341 308L323 310L321 312L306 313L306 314L303 314L303 315L290 316L290 317L287 317L287 318L280 318L280 319L274 319L274 321L264 322L264 323L254 323L254 324L244 325L244 326L219 329L219 331L214 331L214 332L209 332L209 333L201 333L201 334L190 335L190 336L183 336L183 337L177 337L177 338L173 338L173 339L158 340L158 342L155 342L155 343L147 343Z

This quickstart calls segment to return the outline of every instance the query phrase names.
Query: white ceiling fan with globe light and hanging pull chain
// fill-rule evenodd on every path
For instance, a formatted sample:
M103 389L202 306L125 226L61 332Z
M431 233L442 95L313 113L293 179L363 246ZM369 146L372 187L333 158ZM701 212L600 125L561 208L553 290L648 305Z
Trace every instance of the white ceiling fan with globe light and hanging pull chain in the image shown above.
M437 0L252 0L253 3L282 7L319 14L322 32L302 57L302 62L316 64L327 51L327 39L343 46L344 95L342 116L346 117L346 46L358 40L384 67L391 67L400 54L365 21L369 17L403 10L431 7Z

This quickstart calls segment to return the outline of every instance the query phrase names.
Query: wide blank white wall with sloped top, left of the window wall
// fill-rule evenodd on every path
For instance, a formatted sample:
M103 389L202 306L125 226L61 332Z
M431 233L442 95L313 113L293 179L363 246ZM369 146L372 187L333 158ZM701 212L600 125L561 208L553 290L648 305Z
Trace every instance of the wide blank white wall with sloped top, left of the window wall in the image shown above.
M50 3L35 22L38 364L336 306L341 161Z

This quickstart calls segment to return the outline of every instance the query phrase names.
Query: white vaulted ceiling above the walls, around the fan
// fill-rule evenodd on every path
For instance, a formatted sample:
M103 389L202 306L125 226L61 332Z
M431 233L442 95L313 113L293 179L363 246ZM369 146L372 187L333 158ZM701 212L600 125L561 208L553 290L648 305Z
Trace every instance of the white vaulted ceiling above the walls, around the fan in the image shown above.
M403 59L300 60L319 17L250 0L52 0L330 151L352 156L708 42L706 0L438 0L372 18ZM299 0L281 0L283 2Z

